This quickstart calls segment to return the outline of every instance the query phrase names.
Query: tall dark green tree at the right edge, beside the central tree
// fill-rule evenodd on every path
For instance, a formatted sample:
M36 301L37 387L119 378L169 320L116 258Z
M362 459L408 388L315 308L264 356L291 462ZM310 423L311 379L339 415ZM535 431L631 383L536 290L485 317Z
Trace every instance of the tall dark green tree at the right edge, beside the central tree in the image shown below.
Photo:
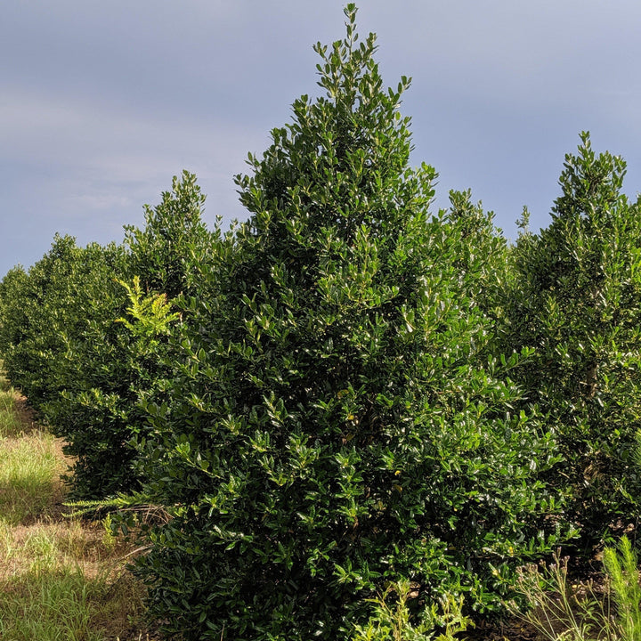
M536 347L523 385L560 436L556 483L595 543L638 514L641 201L621 193L624 161L581 140L565 158L552 223L515 247L511 338Z

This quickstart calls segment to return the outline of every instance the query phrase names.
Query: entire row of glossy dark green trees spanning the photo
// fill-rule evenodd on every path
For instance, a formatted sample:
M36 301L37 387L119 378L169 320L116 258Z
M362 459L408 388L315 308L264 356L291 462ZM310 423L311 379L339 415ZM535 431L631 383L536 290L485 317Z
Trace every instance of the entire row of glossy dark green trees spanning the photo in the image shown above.
M513 246L469 192L432 214L409 81L383 88L345 13L324 95L236 177L247 223L207 230L184 173L123 245L57 237L0 283L4 367L76 498L170 516L135 569L187 639L378 638L371 600L400 585L415 629L444 596L497 612L517 565L638 513L623 161L584 134L553 222Z

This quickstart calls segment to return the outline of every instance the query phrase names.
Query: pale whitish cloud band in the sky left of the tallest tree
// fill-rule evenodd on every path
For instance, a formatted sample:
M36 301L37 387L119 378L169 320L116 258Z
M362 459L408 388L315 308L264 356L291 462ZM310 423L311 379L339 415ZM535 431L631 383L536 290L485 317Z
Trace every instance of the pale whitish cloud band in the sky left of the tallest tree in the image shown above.
M242 170L267 134L232 118L146 116L69 95L7 91L0 103L0 158L111 183L144 184L184 166ZM231 177L231 174L230 174Z

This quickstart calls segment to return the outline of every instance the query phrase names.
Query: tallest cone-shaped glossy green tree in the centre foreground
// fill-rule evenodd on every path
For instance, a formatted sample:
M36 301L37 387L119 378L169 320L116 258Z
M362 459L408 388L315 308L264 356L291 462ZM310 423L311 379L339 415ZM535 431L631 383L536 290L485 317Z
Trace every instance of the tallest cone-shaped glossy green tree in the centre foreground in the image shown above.
M315 47L325 95L238 176L252 216L216 245L147 405L146 491L174 518L137 567L187 639L346 637L389 581L417 586L418 618L448 592L492 609L546 545L553 443L512 413L518 357L488 362L471 296L494 246L468 256L469 216L427 215L408 80L383 89L346 14L345 41Z

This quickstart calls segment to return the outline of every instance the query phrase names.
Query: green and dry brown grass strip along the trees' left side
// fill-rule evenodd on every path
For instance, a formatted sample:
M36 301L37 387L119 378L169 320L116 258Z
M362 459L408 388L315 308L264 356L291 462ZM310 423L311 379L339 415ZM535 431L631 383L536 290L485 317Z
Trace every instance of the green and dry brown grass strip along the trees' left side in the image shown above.
M126 543L62 515L67 467L61 442L0 379L0 638L146 641Z

